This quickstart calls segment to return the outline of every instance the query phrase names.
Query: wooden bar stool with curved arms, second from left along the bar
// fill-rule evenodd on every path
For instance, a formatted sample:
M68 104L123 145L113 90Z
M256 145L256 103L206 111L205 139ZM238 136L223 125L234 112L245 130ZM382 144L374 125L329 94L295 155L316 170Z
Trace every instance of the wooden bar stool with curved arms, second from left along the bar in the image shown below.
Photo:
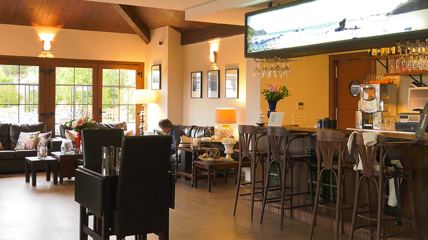
M290 153L289 146L290 143L296 139L304 138L305 136L308 136L308 133L290 133L288 129L285 127L268 127L267 128L267 135L268 135L268 159L269 159L269 165L268 165L268 171L266 173L266 179L265 179L265 192L263 194L263 202L262 202L262 214L260 215L260 223L263 221L263 214L265 213L265 206L271 206L273 208L279 208L281 209L280 214L281 217L279 219L279 230L282 230L282 222L284 217L285 209L290 210L290 218L293 218L293 211L294 208L302 208L306 206L313 207L313 196L312 196L312 175L311 175L311 162L310 162L310 155L308 154L301 154L301 153ZM288 138L291 137L290 140ZM269 178L270 178L270 168L273 164L273 162L276 162L276 165L278 166L278 185L269 186ZM293 190L293 168L294 164L296 162L304 162L307 167L307 174L308 174L308 180L310 189L309 191L303 191L303 192L294 192ZM289 176L289 187L285 187L285 179ZM281 176L281 177L279 177ZM303 183L307 186L307 182ZM288 190L288 193L285 193L285 190ZM273 197L268 198L268 193L273 195ZM296 195L310 195L311 203L310 204L304 204L299 206L293 206L293 197ZM288 199L285 199L285 197L288 197ZM289 201L289 206L285 207L284 202ZM280 202L280 205L273 205L274 202Z

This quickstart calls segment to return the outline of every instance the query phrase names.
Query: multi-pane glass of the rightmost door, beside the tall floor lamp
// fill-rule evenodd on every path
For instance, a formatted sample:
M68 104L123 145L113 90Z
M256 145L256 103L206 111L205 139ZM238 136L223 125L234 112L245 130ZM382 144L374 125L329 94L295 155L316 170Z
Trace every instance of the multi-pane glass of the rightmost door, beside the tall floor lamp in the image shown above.
M102 122L125 121L128 130L136 126L135 104L137 71L132 69L102 69Z

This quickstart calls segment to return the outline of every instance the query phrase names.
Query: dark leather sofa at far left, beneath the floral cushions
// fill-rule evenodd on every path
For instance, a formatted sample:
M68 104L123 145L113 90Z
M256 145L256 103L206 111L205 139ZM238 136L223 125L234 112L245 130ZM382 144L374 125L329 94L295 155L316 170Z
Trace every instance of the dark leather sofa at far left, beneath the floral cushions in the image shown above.
M0 142L4 148L0 151L0 173L24 172L25 157L37 156L37 150L13 150L18 142L20 132L46 133L44 122L33 124L0 123ZM51 136L48 145L48 155L52 151L61 150L61 141Z

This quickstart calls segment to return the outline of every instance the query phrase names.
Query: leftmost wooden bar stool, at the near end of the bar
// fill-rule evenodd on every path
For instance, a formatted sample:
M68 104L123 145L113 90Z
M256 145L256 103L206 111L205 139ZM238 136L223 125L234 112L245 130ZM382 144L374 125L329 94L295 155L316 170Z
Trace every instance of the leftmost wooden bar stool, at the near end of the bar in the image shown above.
M266 135L266 132L259 130L256 126L253 125L238 125L239 133L239 168L238 168L238 180L236 185L236 194L235 194L235 206L233 208L233 215L236 212L236 205L238 203L238 198L244 200L251 200L251 215L250 220L253 221L253 212L254 212L254 202L260 202L261 199L254 199L255 194L263 194L263 191L258 191L264 188L263 185L263 172L264 172L264 163L265 159L268 156L267 150L259 150L257 148L257 142L262 139L262 136ZM259 136L257 136L259 135ZM257 137L256 137L257 136ZM251 150L250 150L251 149ZM251 161L251 181L241 184L241 171L242 171L242 162ZM256 167L260 163L262 167L262 180L256 181ZM256 184L258 186L256 186ZM250 193L239 194L239 188L248 188L251 189ZM250 199L248 198L250 196Z

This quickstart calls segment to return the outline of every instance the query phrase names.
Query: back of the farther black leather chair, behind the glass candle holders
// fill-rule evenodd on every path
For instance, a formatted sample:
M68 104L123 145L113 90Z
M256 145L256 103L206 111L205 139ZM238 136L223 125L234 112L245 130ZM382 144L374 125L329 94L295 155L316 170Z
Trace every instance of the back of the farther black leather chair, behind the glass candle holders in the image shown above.
M122 129L82 130L83 166L102 165L102 147L122 145Z

